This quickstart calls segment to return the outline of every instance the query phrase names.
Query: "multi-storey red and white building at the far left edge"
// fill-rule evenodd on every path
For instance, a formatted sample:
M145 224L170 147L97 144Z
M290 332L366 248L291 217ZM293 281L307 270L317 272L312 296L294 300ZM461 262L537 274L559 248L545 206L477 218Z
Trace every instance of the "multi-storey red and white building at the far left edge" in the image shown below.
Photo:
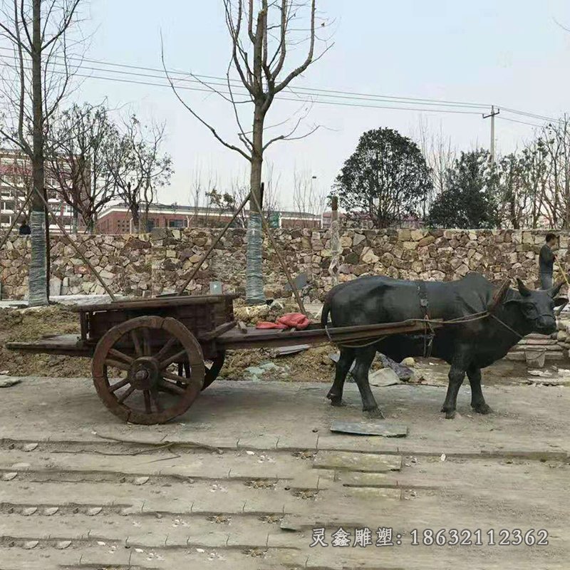
M32 172L29 157L19 150L0 149L0 229L8 229L20 208L26 202L31 190ZM58 181L53 171L46 165L46 189L48 204L56 214L66 231L73 229L73 209L68 206L61 196L58 196ZM31 210L31 200L24 209L14 228L28 217ZM59 233L58 226L50 217L50 232Z

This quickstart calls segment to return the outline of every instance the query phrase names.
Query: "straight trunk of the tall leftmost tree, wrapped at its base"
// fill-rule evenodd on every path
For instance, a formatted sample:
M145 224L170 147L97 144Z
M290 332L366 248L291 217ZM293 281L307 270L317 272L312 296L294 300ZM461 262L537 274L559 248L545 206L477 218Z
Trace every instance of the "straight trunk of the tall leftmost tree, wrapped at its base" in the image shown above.
M28 276L30 306L48 304L46 217L40 195L43 193L43 93L41 85L41 0L33 0L32 46L32 100L33 100L33 149L32 177L33 199L31 206L31 259ZM40 195L38 195L38 193Z

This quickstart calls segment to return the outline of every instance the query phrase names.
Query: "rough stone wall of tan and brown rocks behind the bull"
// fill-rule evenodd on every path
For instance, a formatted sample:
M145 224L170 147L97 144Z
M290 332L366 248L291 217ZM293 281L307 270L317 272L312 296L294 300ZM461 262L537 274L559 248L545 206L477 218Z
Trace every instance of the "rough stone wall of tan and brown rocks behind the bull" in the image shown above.
M152 234L78 236L76 243L113 291L143 296L174 291L197 264L217 235L216 229L167 230ZM311 229L274 230L292 274L305 273L304 295L321 299L331 286L329 232ZM493 281L518 276L538 286L537 254L545 232L514 230L358 230L341 235L340 279L385 274L403 279L450 280L480 271ZM568 235L561 236L561 261L569 261ZM244 290L243 229L230 229L188 287L206 292L209 281L222 281L226 291ZM4 299L27 294L29 237L14 236L0 252L0 281ZM264 244L266 296L284 296L286 276L269 239ZM103 293L95 276L61 236L51 243L54 291L62 294Z

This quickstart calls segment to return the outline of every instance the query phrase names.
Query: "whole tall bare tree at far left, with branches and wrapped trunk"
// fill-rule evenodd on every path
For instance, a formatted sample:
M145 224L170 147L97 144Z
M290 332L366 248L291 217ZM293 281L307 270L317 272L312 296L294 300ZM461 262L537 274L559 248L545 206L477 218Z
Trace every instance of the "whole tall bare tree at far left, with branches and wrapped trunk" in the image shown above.
M77 24L81 0L0 0L2 47L11 55L1 66L0 89L6 126L0 135L31 161L31 261L29 303L48 302L46 248L46 133L61 100L68 93L73 69L68 55L76 48L70 32Z

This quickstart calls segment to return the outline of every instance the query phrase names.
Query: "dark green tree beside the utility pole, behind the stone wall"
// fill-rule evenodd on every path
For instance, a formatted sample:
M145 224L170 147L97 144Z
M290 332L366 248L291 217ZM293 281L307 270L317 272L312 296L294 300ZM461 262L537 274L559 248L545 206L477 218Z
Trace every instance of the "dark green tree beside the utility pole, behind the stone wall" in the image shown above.
M489 152L462 152L447 170L445 190L432 204L428 222L436 227L497 227L496 195L497 173Z

